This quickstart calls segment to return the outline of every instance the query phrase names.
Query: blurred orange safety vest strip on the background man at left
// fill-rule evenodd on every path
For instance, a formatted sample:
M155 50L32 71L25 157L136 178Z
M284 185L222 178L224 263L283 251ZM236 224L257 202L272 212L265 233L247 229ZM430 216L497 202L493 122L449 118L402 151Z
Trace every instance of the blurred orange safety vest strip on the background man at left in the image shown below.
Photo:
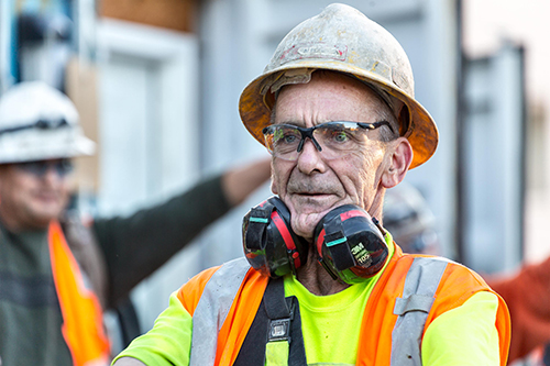
M63 314L62 333L73 364L106 365L109 363L110 345L103 330L101 306L94 291L85 286L80 267L58 222L50 224L48 245Z

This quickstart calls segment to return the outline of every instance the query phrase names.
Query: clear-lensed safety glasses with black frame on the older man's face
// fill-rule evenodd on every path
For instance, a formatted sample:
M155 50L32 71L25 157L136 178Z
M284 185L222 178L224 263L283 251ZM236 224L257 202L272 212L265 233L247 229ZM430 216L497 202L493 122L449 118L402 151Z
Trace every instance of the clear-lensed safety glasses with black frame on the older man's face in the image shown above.
M363 148L366 131L356 122L328 122L309 129L274 124L264 129L264 136L272 154L286 160L298 158L307 137L324 158L334 159Z

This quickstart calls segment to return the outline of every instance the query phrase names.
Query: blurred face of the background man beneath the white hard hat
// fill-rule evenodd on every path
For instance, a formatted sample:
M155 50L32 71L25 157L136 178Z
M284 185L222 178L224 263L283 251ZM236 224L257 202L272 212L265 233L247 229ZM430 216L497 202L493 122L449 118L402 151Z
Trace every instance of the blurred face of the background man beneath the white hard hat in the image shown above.
M62 160L47 160L43 174L22 164L0 166L0 217L11 231L47 228L68 201L68 179L54 168Z

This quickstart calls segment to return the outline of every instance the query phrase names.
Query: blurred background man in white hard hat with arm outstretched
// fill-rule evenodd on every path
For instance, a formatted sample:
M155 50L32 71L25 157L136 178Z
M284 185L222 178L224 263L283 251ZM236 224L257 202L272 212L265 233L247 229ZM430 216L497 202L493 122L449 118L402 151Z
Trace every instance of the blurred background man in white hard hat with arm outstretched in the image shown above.
M0 99L1 365L107 365L102 310L271 173L268 160L258 160L161 206L85 228L62 213L72 158L94 149L58 90L23 82Z

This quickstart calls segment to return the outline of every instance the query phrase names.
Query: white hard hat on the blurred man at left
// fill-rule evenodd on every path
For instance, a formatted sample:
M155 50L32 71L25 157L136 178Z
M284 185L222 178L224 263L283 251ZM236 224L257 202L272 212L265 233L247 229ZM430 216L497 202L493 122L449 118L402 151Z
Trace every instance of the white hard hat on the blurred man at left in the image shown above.
M0 99L0 164L92 155L95 149L70 99L45 82L18 84Z

